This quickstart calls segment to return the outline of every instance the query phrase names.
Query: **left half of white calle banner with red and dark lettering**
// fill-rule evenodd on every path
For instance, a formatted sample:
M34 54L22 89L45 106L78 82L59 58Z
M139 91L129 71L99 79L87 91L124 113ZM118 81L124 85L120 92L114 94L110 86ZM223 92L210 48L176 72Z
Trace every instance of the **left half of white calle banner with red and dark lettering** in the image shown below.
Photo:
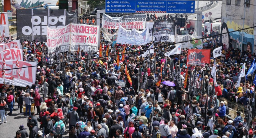
M118 29L119 25L123 22L122 17L111 17L103 13L101 28L105 29Z

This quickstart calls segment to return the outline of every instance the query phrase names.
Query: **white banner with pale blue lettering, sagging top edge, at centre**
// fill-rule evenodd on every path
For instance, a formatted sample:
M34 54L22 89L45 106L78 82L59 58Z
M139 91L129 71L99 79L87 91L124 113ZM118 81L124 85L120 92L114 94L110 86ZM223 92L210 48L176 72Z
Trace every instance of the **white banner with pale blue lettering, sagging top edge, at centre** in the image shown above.
M126 30L119 26L117 43L132 44L132 45L144 45L149 43L147 28L143 31L137 31L136 29Z

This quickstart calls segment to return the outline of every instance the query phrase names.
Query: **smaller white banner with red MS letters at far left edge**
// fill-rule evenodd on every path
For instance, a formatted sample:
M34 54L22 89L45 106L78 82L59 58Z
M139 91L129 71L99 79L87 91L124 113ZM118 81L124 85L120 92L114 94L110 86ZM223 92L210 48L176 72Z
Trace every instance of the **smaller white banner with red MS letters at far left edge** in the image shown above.
M23 51L18 48L6 49L0 52L0 60L23 61Z

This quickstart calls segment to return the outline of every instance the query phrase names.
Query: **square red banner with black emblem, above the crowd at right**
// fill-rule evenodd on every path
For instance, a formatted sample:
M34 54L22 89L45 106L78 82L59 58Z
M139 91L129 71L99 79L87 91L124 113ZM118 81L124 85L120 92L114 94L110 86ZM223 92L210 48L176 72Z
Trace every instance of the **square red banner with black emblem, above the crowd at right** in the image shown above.
M195 65L205 65L206 63L210 63L210 49L207 50L199 50L199 49L189 49L187 65L195 66Z

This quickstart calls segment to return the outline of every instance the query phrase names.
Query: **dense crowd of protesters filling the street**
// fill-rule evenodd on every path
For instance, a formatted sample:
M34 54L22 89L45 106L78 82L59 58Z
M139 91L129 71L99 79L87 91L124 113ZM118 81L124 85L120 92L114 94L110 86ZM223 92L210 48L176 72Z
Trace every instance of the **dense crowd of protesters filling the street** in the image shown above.
M104 40L103 32L101 35L103 56L109 51L106 57L83 49L78 53L50 55L47 43L22 40L24 59L38 62L36 82L26 88L2 85L0 124L7 122L13 109L19 109L19 115L28 119L24 122L27 125L19 126L16 138L62 138L67 132L70 138L253 137L252 115L237 109L231 111L230 107L231 104L247 107L253 103L253 75L242 77L239 87L235 85L243 64L247 72L255 53L244 50L240 53L232 47L224 50L221 41L211 37L203 39L203 49L211 49L210 64L187 66L188 49L165 57L175 46L157 42L155 47L162 47L142 57L145 51L140 50L153 42L142 46L112 46L112 42ZM216 58L214 82L212 51L219 46L222 55ZM115 55L122 51L133 53ZM81 60L73 61L77 59ZM64 61L70 62L59 63ZM162 70L165 64L172 69ZM160 81L171 81L176 86L158 85L161 71ZM192 73L195 80L191 79Z

